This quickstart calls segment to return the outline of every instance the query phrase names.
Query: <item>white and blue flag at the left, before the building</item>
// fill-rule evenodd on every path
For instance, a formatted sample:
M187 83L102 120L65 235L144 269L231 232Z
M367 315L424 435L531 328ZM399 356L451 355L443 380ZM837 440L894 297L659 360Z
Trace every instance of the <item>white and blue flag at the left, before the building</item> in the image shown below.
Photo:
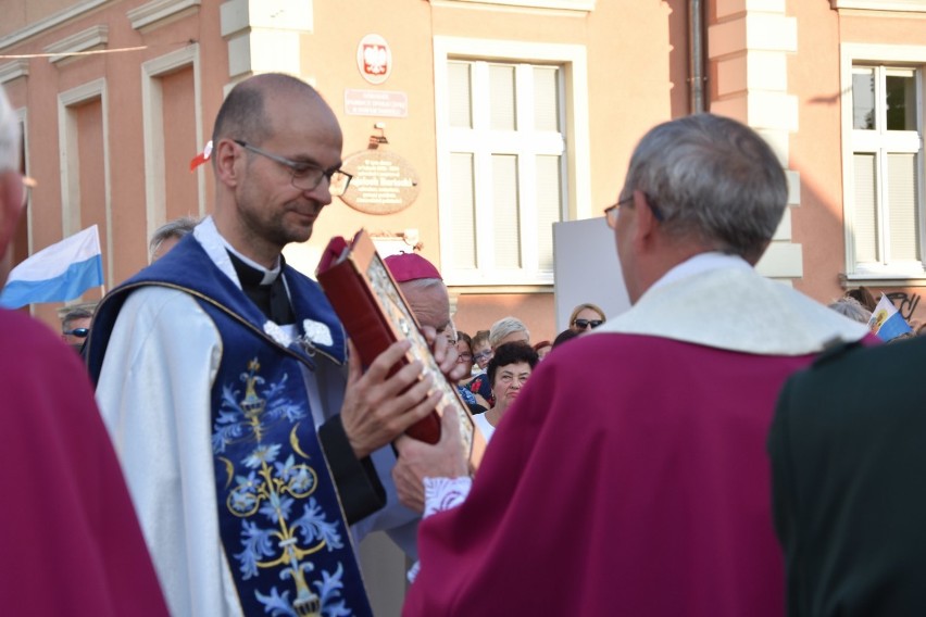
M91 225L23 261L10 272L0 306L66 302L103 285L100 230Z

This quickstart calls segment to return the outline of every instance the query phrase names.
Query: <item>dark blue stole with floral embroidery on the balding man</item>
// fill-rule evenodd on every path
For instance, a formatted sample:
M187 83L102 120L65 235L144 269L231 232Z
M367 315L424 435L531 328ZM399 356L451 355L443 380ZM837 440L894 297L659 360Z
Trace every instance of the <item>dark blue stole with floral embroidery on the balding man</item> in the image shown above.
M199 243L184 239L101 303L88 365L98 379L132 290L191 293L225 350L212 388L212 451L220 534L245 615L372 615L302 377L316 360L343 362L343 329L317 285L289 267L284 275L302 336L288 345L264 331L266 318Z

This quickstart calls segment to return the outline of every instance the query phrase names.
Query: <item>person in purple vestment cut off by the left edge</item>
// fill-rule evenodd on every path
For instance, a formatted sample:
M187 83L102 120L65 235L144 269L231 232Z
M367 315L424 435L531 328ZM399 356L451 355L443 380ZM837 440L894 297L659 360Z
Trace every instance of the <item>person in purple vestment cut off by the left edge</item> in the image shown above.
M0 285L24 206L20 119L0 88ZM80 360L0 308L0 606L4 615L166 617Z

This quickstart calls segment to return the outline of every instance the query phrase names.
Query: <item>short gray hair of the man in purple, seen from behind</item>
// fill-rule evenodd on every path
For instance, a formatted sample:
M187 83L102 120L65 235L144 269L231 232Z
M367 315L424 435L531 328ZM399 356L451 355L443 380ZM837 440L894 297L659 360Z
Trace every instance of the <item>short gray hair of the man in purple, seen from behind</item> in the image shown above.
M651 129L630 159L622 199L639 190L662 229L755 263L778 227L788 182L772 148L734 119L696 114Z

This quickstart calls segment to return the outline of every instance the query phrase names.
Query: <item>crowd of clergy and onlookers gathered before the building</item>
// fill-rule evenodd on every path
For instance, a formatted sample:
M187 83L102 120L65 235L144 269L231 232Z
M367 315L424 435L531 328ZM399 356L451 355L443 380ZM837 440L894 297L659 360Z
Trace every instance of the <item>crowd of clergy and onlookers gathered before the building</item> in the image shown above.
M0 93L0 279L18 127ZM631 307L579 304L553 341L456 331L439 270L387 257L434 373L408 340L362 366L281 254L351 181L318 92L245 79L212 143L212 214L64 324L89 379L0 312L10 614L373 615L375 530L415 562L406 616L926 613L926 339L880 344L861 302L755 272L788 188L752 129L643 136L604 211ZM477 470L452 407L435 443L405 435L438 370L489 442Z

